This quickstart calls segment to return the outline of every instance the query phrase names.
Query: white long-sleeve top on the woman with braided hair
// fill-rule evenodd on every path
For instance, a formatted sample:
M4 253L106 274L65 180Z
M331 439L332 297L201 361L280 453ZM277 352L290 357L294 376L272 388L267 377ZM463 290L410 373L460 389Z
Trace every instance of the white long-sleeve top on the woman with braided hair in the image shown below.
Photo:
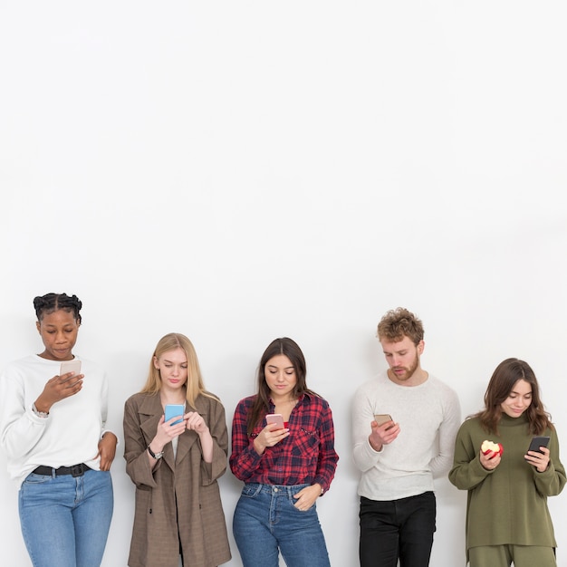
M47 418L32 406L61 362L32 354L15 360L0 375L0 447L8 457L8 473L18 488L37 466L84 463L100 470L98 444L105 433L108 381L95 363L82 361L82 389L53 404Z

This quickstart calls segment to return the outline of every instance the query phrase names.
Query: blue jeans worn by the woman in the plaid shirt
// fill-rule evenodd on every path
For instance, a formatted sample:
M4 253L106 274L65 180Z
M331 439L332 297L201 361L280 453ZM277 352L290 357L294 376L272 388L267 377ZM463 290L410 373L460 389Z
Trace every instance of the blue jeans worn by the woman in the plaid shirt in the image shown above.
M233 519L244 567L278 567L280 552L288 567L330 567L316 506L293 506L305 486L245 485Z

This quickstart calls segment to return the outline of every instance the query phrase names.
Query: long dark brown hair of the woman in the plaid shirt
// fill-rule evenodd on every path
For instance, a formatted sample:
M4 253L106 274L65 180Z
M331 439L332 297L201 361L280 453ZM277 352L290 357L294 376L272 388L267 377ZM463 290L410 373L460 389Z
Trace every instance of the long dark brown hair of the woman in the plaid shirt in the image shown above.
M248 420L246 422L246 432L248 435L252 435L255 426L264 418L265 414L268 413L270 409L270 389L265 381L265 365L268 360L274 358L274 356L277 356L278 354L285 355L292 363L293 370L295 370L297 382L293 388L293 398L297 398L302 394L312 394L313 396L317 396L315 392L307 388L307 383L305 381L307 376L307 365L305 363L303 352L299 348L297 342L292 339L288 339L287 337L274 339L274 341L270 342L264 351L258 366L258 390L254 403L252 404L252 408L248 413Z

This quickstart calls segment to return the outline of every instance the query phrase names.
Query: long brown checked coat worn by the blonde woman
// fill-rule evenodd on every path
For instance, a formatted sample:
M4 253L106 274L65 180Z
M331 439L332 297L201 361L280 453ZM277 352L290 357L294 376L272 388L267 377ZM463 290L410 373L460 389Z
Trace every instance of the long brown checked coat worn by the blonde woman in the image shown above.
M146 449L163 414L159 394L135 394L126 400L124 458L136 485L130 567L178 567L179 541L186 567L216 567L231 558L216 482L226 470L225 408L206 396L199 396L196 406L215 441L213 462L203 461L197 433L185 431L175 462L168 443L152 471Z

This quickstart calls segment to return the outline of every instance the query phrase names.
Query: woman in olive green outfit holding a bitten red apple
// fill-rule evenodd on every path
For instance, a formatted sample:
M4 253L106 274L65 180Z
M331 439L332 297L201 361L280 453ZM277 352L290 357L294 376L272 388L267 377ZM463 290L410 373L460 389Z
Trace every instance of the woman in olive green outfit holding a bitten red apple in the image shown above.
M549 445L529 451L534 436L550 437ZM481 449L484 441L500 447ZM485 409L458 431L449 480L468 491L466 558L471 567L557 565L547 497L558 495L567 479L557 432L524 360L506 359L496 367Z

